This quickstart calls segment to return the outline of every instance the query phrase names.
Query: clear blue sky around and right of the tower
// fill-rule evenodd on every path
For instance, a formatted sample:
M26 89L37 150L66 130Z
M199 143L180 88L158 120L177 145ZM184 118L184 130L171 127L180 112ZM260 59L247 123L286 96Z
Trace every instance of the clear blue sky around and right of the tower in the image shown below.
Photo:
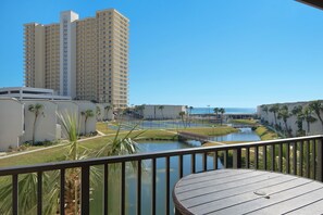
M2 0L0 87L23 86L24 23L109 8L131 20L129 104L323 99L323 11L294 0Z

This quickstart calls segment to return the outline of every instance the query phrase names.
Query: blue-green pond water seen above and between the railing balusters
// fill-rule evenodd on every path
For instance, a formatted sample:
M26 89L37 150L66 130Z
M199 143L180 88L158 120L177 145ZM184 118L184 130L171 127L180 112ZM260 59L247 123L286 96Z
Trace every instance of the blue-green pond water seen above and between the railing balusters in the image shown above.
M222 137L214 138L216 141L257 141L259 137L251 131L251 129L241 129L240 132L229 134ZM141 152L157 152L157 151L167 151L167 150L179 150L200 147L200 142L198 141L188 141L188 142L179 142L179 141L147 141L140 142L139 148ZM190 174L191 169L191 156L185 155L183 157L183 172L184 176ZM174 208L172 201L172 189L176 181L178 180L178 157L171 157L170 163L170 200L171 200L171 208ZM219 161L219 168L222 168L222 164ZM208 156L208 169L213 169L213 156ZM120 167L120 166L119 166ZM102 167L99 167L102 169ZM126 164L126 190L125 190L125 199L126 199L126 214L133 215L136 214L136 205L137 205L137 173L136 168L133 170L131 164ZM110 170L110 168L109 168ZM202 170L202 155L196 155L196 172ZM110 174L112 175L112 174ZM151 214L151 161L145 161L142 164L141 172L141 214ZM157 160L157 214L165 214L165 159ZM120 186L121 178L120 173L114 173L111 180L109 180L109 214L120 214ZM92 199L90 204L91 214L102 214L102 185L97 186L97 189L92 192ZM173 214L173 210L170 211L170 214Z

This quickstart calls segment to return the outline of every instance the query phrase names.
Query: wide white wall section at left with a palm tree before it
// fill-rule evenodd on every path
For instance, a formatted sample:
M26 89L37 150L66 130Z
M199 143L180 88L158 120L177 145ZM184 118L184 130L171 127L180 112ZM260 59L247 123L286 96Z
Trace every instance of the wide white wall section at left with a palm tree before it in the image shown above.
M28 111L30 104L42 104L44 109L35 126L35 142L53 141L57 139L57 111L58 104L48 100L23 100L25 113L25 134L22 142L33 140L35 114Z

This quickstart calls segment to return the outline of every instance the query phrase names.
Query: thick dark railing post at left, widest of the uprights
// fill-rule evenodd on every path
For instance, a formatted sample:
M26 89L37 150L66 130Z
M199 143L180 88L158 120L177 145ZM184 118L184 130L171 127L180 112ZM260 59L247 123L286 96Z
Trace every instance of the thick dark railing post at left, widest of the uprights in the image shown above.
M80 174L80 213L89 214L89 166L82 167Z

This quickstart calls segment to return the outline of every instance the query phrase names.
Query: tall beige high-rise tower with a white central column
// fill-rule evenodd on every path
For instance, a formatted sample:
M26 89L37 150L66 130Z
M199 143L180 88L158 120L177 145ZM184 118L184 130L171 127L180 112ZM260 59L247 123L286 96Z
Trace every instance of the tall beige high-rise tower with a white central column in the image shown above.
M25 86L126 106L128 22L110 9L84 20L65 11L57 24L25 24Z

